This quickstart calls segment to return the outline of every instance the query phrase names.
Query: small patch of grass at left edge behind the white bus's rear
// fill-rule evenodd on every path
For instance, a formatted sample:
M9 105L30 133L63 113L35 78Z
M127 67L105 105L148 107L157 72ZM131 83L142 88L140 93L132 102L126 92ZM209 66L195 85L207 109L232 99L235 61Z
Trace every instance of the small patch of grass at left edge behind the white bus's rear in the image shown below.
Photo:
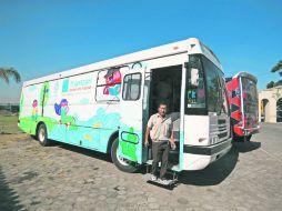
M18 115L0 115L0 134L1 133L20 133L18 128Z

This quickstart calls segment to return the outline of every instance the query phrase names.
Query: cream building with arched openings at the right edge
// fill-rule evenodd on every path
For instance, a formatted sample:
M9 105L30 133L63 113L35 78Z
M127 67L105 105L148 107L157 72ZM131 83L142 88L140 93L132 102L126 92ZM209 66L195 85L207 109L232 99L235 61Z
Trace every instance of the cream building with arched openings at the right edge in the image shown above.
M282 122L282 86L259 91L261 122Z

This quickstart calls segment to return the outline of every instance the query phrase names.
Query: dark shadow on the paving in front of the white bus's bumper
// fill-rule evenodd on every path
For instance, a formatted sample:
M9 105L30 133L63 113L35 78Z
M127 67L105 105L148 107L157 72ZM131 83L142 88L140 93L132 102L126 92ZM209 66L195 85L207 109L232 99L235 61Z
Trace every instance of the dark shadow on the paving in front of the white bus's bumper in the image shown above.
M221 183L233 171L239 154L256 150L260 142L234 142L232 149L223 158L201 171L184 171L179 181L192 185L215 185Z

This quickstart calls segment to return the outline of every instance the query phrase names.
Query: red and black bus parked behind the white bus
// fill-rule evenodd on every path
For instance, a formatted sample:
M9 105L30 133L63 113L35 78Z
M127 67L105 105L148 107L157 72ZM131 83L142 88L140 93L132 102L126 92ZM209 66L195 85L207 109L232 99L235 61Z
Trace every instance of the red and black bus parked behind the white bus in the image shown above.
M248 72L225 79L234 141L250 141L252 134L259 132L256 82L256 78Z

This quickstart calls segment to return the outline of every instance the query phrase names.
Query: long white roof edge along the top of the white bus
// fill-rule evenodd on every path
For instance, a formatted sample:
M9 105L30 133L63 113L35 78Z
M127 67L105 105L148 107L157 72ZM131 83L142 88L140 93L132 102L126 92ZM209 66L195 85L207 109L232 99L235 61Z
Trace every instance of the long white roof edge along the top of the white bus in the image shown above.
M222 66L215 54L207 47L204 46L199 39L197 38L189 38L182 41L172 42L169 44L163 44L160 47L129 53L121 57L115 57L112 59L99 61L95 63L82 66L79 68L70 69L67 71L53 73L47 77L41 77L38 79L29 80L23 83L23 87L42 83L50 80L56 80L60 78L67 78L75 74L92 72L97 70L113 68L113 67L120 67L124 64L134 63L138 61L145 61L145 60L152 60L161 57L167 56L173 56L179 53L202 53L208 59L210 59L216 67L219 67L222 70Z

